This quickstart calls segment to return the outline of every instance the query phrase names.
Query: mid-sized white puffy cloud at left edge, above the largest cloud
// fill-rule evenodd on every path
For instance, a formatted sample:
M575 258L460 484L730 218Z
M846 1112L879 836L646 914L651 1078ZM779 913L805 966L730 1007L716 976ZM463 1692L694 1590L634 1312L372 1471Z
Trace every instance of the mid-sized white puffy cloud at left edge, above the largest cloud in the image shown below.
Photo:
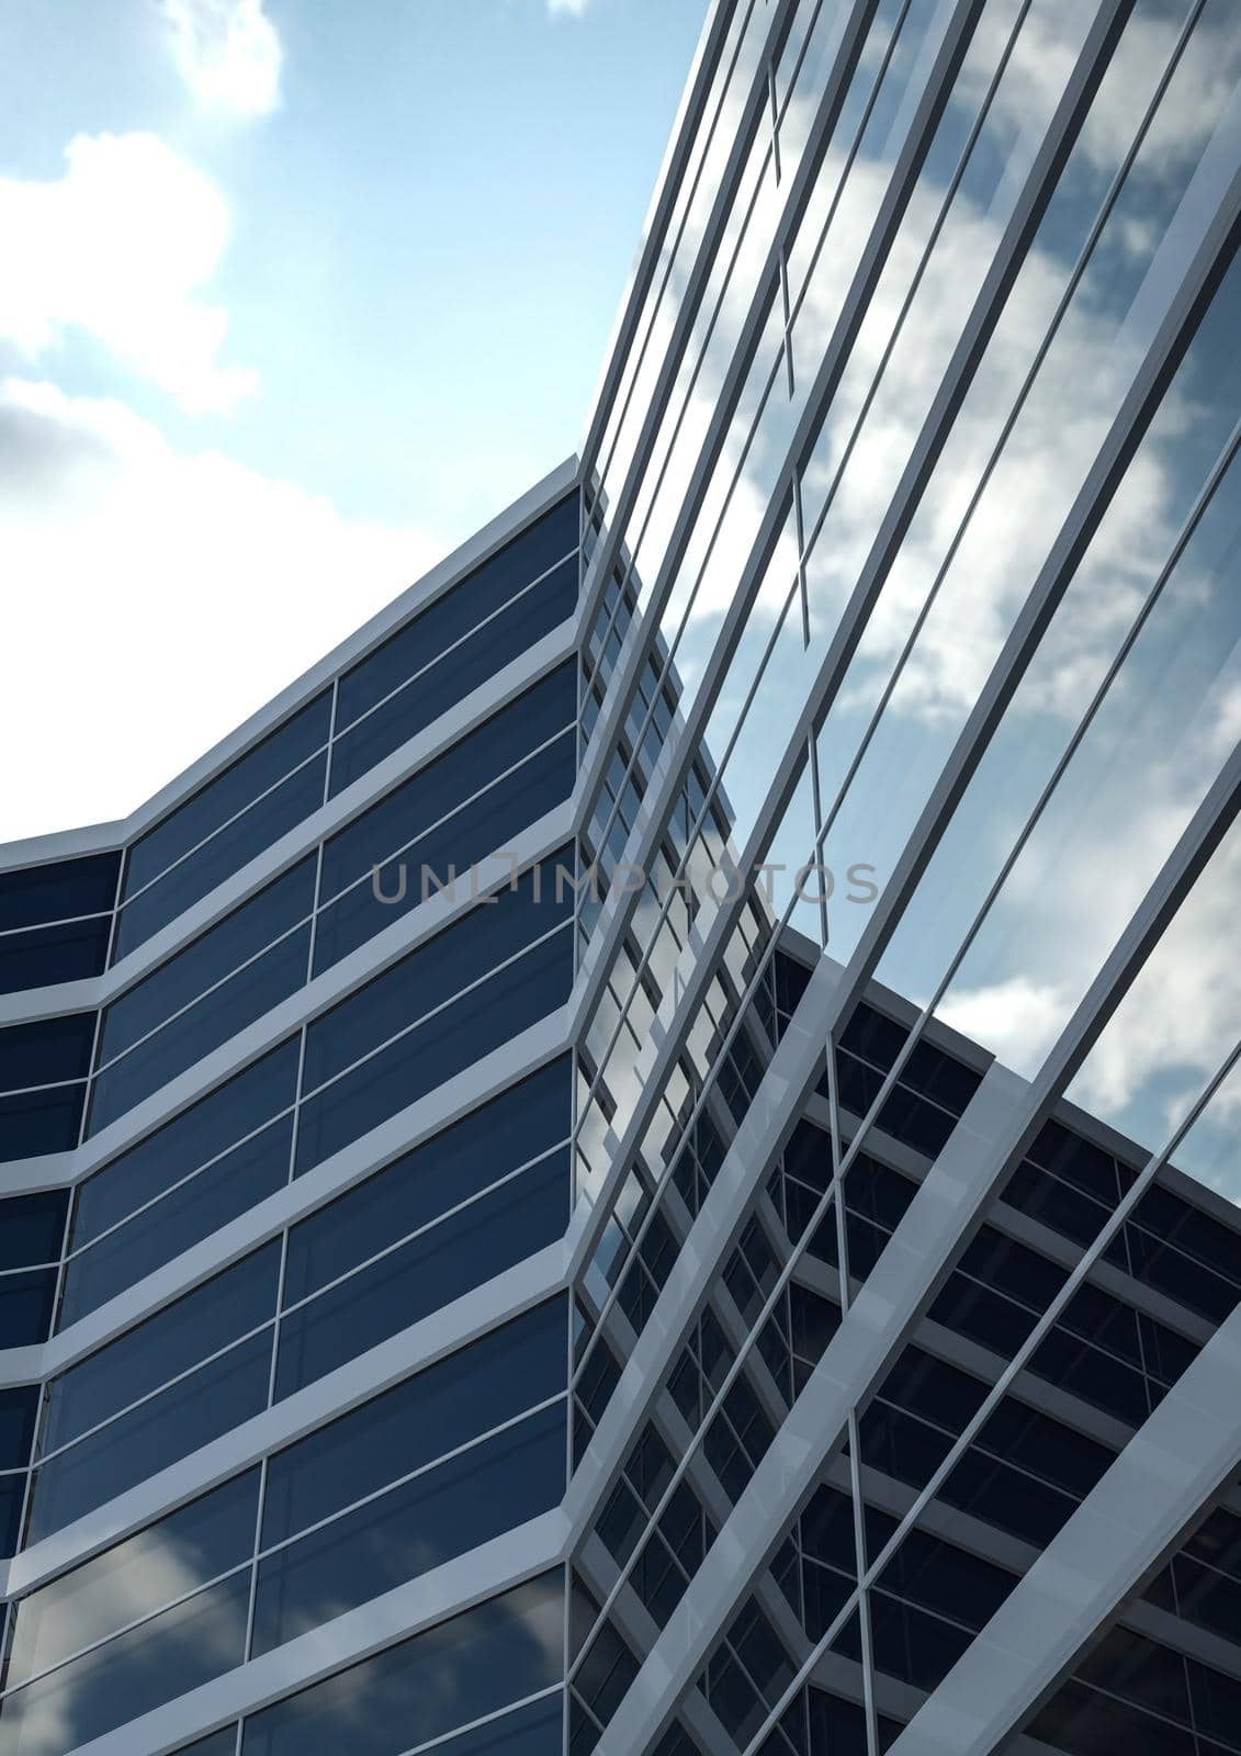
M75 135L56 183L0 177L0 337L32 360L79 332L191 413L225 411L255 372L221 365L228 313L197 293L228 207L151 133Z

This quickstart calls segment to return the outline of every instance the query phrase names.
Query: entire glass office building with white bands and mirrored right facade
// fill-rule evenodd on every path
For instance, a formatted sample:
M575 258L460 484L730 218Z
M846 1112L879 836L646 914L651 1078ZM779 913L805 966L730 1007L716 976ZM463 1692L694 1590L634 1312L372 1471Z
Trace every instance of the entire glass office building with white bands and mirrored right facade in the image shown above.
M1241 16L720 0L574 458L0 874L4 1756L1241 1751Z

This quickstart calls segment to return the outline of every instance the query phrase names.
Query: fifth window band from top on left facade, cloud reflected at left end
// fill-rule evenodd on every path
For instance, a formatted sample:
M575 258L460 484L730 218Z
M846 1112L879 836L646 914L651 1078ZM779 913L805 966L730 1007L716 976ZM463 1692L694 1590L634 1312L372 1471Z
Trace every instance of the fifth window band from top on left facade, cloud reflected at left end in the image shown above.
M535 1306L11 1610L0 1738L100 1737L560 1503L567 1306ZM247 1628L247 1605L253 1616Z

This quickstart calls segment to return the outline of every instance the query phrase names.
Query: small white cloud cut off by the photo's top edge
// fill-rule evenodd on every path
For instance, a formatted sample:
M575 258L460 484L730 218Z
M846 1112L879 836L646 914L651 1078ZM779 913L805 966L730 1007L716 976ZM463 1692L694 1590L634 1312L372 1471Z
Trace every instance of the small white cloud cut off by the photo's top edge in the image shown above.
M181 77L207 111L267 116L281 97L281 39L263 0L163 0Z

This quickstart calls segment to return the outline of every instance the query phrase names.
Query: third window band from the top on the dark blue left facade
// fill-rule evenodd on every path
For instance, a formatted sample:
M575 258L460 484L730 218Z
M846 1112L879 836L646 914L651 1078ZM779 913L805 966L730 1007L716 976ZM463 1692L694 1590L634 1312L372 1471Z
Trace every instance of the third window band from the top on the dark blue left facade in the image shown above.
M70 1240L72 1317L563 1004L572 982L572 890L563 885L556 899L556 869L572 871L570 850L95 1173L82 1185ZM186 1184L200 1168L211 1171L211 1191ZM44 1205L56 1201L63 1198ZM130 1224L119 1229L125 1219ZM7 1285L5 1345L42 1340L54 1280L54 1271L42 1271Z

